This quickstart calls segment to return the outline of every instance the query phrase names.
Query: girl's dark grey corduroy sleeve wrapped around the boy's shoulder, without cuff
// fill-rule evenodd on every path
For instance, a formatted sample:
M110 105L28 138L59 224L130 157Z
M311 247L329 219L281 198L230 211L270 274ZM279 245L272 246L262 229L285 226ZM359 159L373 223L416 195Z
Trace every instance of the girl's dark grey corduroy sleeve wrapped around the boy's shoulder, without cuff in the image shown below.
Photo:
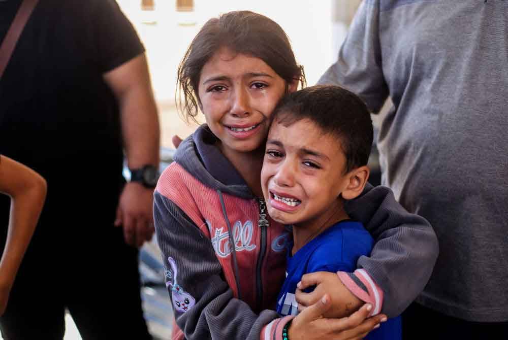
M368 184L345 209L375 240L370 257L361 256L357 265L383 289L382 312L395 317L422 292L432 274L439 252L436 234L426 219L408 213L387 187Z

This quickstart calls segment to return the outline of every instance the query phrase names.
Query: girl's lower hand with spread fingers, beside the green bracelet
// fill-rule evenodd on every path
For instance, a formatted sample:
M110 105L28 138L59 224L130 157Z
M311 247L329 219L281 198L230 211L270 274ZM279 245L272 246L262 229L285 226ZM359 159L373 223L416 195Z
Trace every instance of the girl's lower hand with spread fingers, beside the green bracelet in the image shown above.
M370 304L363 305L360 310L349 317L323 318L323 314L330 308L330 298L326 294L293 319L288 330L289 338L291 340L360 340L372 329L377 328L380 322L386 321L385 315L376 315L366 319L372 309Z

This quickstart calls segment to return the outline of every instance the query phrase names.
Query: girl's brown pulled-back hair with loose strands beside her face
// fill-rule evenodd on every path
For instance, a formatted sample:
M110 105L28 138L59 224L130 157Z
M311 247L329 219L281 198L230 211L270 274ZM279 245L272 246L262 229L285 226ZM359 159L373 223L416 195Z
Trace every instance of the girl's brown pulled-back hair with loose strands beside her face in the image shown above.
M178 66L176 105L187 121L197 122L201 70L222 47L262 59L286 82L305 86L303 66L296 62L288 36L273 20L250 11L229 12L208 20Z

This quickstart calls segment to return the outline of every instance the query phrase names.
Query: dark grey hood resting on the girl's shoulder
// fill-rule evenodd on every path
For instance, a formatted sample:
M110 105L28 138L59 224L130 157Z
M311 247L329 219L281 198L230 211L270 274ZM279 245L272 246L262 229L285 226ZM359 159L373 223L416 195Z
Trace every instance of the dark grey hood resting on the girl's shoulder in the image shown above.
M176 150L174 159L203 184L241 198L255 198L233 164L220 152L217 137L206 124L187 137Z

